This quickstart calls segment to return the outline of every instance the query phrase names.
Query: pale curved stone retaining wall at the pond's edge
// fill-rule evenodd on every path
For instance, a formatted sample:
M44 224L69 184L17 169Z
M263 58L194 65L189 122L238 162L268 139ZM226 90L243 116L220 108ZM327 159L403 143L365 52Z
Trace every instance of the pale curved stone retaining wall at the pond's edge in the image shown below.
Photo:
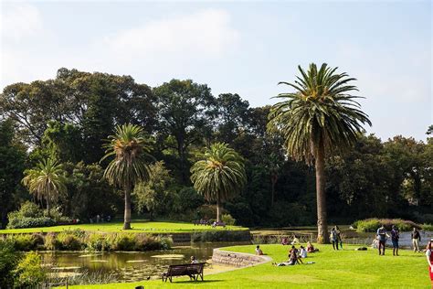
M223 263L236 267L249 267L271 260L270 257L264 255L258 256L248 253L228 252L220 249L214 249L212 254L213 263Z

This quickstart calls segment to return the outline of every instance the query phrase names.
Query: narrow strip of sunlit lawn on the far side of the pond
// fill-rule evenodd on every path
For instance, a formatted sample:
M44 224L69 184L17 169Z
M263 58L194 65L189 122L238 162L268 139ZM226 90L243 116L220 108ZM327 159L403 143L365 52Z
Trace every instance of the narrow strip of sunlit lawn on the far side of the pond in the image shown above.
M10 229L0 230L0 234L11 233L32 233L32 232L56 232L62 230L88 230L88 231L104 231L104 232L119 232L122 231L122 222L110 222L99 224L80 224L80 225L65 225L53 226L44 228L26 228L26 229ZM192 232L195 230L248 230L239 226L227 226L226 228L210 226L195 226L192 223L176 222L176 221L145 221L145 220L132 220L132 230L128 232L149 232L149 233L180 233Z

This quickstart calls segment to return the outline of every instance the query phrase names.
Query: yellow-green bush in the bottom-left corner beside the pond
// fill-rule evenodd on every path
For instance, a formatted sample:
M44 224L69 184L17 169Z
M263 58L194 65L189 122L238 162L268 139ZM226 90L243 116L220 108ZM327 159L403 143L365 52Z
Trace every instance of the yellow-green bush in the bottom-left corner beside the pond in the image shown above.
M47 270L42 267L42 258L37 252L26 252L16 265L16 287L35 287L47 279Z

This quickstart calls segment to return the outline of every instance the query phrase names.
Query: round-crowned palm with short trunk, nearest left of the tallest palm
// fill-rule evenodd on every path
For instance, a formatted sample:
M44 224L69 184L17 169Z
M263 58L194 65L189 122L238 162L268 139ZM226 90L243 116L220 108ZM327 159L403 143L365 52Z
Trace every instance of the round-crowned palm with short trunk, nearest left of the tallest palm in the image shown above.
M191 173L195 190L207 201L216 201L216 221L220 220L221 202L233 198L247 182L243 158L222 143L206 148L203 159L191 167Z

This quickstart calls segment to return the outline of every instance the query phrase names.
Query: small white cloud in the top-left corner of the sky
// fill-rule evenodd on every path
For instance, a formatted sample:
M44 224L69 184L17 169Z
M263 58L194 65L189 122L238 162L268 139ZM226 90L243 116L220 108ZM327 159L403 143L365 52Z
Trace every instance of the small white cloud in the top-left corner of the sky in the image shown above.
M4 5L1 11L1 37L16 41L42 30L42 17L37 7L26 4Z

